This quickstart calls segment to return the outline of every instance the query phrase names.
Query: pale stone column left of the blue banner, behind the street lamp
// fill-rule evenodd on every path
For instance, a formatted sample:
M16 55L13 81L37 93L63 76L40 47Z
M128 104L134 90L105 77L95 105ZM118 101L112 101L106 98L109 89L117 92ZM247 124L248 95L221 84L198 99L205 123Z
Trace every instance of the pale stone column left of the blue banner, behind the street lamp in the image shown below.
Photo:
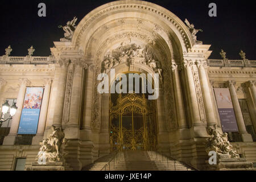
M17 103L16 103L16 106L18 107L18 109L16 110L13 120L11 121L10 133L3 140L3 145L14 145L15 138L16 138L16 135L18 132L19 121L20 121L20 117L22 114L22 108L23 108L23 102L24 102L24 97L25 97L25 93L26 93L26 88L27 88L27 85L30 83L27 78L19 79L19 82L20 82L20 88L19 88L19 93L18 93Z

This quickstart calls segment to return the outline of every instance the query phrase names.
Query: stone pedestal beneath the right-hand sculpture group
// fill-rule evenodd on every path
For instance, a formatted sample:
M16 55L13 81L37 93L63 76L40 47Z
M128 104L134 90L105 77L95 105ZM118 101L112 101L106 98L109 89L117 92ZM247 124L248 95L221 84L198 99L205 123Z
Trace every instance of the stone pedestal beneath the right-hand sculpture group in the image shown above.
M208 163L208 161L207 161ZM254 171L253 163L245 158L229 158L229 155L218 155L217 164L209 165L210 171Z

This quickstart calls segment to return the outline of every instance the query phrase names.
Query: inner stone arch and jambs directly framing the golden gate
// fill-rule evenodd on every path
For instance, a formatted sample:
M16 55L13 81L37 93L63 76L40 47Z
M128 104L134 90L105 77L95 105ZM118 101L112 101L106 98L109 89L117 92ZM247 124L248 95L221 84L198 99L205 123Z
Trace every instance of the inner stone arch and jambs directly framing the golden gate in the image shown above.
M127 59L129 60L129 57L126 56L126 57L122 57L122 59ZM154 75L155 73L158 73L158 70L155 70L152 69L149 65L147 64L143 64L143 63L140 63L139 61L142 61L144 59L142 59L141 57L134 57L134 64L133 65L129 65L129 61L126 61L124 63L121 63L121 64L118 64L118 65L115 65L112 69L115 69L115 74L114 76L111 75L110 71L108 70L107 72L102 70L101 72L104 72L104 73L108 73L108 76L110 78L110 81L109 81L109 85L112 85L113 81L115 80L115 78L118 78L119 75L122 75L123 73L144 73L144 74L151 74L151 75ZM102 67L104 67L104 65L102 65ZM162 79L160 79L162 80ZM100 81L98 81L100 82ZM151 84L154 84L154 78L152 78L151 80ZM162 88L163 86L163 82L160 81L158 83L158 85L160 86L160 88ZM111 89L109 89L111 90ZM157 89L157 92L159 93L160 92L160 95L162 96L161 94L161 90L162 89ZM96 93L94 93L96 94ZM99 97L98 97L98 102L100 102L100 106L101 106L101 134L102 136L100 138L109 138L109 118L110 118L110 115L109 115L109 100L111 98L111 94L99 94ZM164 101L163 101L163 98L162 97L158 97L156 100L154 100L154 107L156 108L155 110L155 119L156 119L156 135L158 138L155 138L156 139L156 143L159 143L159 144L162 144L163 143L163 138L166 139L166 143L168 143L168 136L164 137L163 134L164 132L166 133L166 123L164 121L164 114L163 114L163 110L164 109L161 109L163 108L163 105L164 105ZM164 118L164 119L163 119ZM103 128L104 127L104 128ZM100 134L100 135L101 135ZM107 141L105 141L107 142ZM109 141L108 141L109 142ZM155 146L156 147L156 146ZM154 147L154 150L156 150L156 148ZM152 147L151 147L151 150L152 150Z

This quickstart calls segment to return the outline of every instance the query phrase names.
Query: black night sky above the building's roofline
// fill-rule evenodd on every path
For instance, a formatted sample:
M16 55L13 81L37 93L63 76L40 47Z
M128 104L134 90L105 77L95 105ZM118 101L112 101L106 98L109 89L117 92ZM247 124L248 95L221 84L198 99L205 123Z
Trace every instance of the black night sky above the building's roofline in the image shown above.
M38 16L38 4L46 3L47 16ZM12 56L25 56L27 49L34 46L35 56L50 55L53 41L63 37L64 25L73 16L78 22L86 14L110 1L103 0L33 0L1 1L1 42L0 55L5 55L5 48L11 45ZM165 7L181 20L187 18L204 32L197 34L197 39L204 44L212 44L210 58L220 59L222 49L229 59L240 59L239 52L246 52L247 59L256 60L255 6L253 1L243 0L161 0L150 1ZM217 17L208 16L208 5L217 4Z

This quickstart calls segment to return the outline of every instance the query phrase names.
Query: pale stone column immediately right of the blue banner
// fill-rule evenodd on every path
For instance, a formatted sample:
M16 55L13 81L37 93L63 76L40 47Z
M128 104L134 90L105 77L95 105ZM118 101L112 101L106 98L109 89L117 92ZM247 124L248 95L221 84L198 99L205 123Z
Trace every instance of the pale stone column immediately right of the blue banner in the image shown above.
M32 144L39 144L39 142L43 139L44 129L46 128L46 118L47 118L47 111L49 105L49 95L51 92L51 79L44 80L44 94L43 100L40 110L40 117L38 122L38 131L35 137L33 137Z

